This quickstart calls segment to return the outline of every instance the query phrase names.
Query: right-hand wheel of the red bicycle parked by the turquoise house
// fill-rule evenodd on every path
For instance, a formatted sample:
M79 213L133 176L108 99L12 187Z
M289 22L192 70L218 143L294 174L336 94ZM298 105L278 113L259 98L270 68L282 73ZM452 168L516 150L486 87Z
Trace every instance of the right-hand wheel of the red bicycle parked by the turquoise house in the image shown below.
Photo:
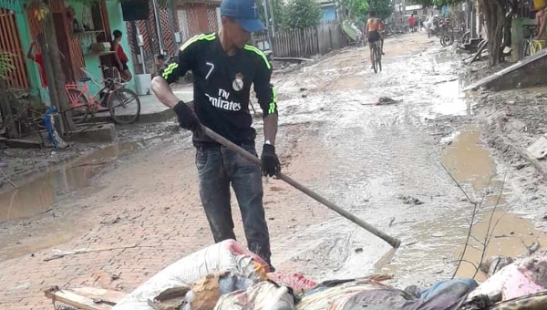
M134 91L118 88L108 95L110 117L118 124L130 124L139 119L140 99Z

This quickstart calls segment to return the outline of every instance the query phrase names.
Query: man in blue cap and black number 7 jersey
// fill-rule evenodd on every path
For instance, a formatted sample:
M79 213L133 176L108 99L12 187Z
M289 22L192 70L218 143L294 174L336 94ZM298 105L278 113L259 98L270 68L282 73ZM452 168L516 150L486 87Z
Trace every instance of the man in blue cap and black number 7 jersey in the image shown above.
M194 36L182 45L179 58L152 79L156 97L174 110L181 128L190 129L196 147L200 196L216 243L235 239L230 184L243 216L249 249L271 263L270 236L263 209L261 168L210 139L201 124L257 156L249 112L251 85L263 109L262 174L280 169L275 154L277 94L270 84L272 65L261 50L246 43L264 29L253 0L223 0L218 33ZM191 70L194 110L177 98L170 83Z

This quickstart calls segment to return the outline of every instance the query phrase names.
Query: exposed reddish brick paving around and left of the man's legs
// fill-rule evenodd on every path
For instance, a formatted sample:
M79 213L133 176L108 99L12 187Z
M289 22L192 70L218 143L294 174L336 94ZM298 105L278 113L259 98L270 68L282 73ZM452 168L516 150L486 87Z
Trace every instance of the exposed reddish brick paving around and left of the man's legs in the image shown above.
M53 254L52 248L47 248L34 255L0 262L0 308L51 309L51 302L42 293L51 285L130 292L166 265L211 244L212 236L197 192L194 150L181 149L185 144L167 141L151 150L139 151L117 169L99 177L95 183L100 184L100 190L88 191L78 197L76 205L70 206L88 206L75 212L70 221L76 227L81 224L91 228L54 248L114 250L79 253L44 262ZM294 168L306 167L305 155L301 156L301 166L300 160L292 157L293 164L285 171L292 170L294 177L302 181L315 178ZM323 209L311 212L313 202L281 181L270 180L264 188L276 263L275 257L282 256L280 252L284 249L276 249L275 243L283 240L285 233L325 221L328 213ZM68 205L61 202L58 208L62 209L63 204ZM232 203L232 207L236 235L244 243L237 205ZM113 221L118 217L118 221ZM40 218L34 221L39 222Z

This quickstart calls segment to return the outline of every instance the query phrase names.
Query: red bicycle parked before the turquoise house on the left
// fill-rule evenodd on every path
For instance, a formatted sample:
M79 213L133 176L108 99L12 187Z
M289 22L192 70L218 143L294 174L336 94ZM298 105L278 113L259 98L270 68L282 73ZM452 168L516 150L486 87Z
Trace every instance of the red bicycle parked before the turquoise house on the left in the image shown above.
M80 124L88 119L88 114L94 116L98 112L109 111L110 117L115 123L125 125L139 119L140 99L137 94L125 88L119 71L115 67L103 67L108 78L102 82L93 77L85 67L80 68L86 78L80 78L80 84L67 84L68 99L72 121ZM110 73L108 75L108 73ZM91 95L88 82L92 82L99 90Z

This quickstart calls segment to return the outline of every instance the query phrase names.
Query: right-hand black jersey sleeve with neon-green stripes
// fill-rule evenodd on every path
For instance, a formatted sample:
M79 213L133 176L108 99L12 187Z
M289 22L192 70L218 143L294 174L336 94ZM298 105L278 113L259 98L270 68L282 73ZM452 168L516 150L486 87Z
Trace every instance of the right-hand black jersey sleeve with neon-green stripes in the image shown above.
M263 51L256 47L245 47L246 49L253 48L260 59L258 59L258 69L254 76L254 92L260 107L263 109L263 118L271 114L277 114L277 91L270 83L272 78L272 65Z

